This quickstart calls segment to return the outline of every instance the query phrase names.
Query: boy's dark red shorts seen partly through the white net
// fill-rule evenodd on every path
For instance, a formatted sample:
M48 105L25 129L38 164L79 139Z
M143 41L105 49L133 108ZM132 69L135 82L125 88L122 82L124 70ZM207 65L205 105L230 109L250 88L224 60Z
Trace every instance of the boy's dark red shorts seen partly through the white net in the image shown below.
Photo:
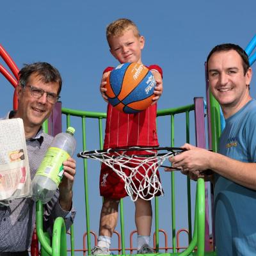
M144 152L144 151L134 152L133 151L133 152L129 152L129 154L148 154L148 152ZM129 163L127 165L129 167L137 166L137 164L135 164L135 163ZM147 168L147 164L145 164L144 167ZM115 168L118 169L118 164L116 164ZM138 168L138 171L140 173L138 173L136 175L136 177L134 177L132 179L134 182L134 186L135 186L135 188L133 188L134 190L138 190L136 188L140 188L141 182L136 179L141 180L141 175L145 175L145 172L146 172L145 168L143 168L142 166L140 168ZM122 168L122 171L125 172L125 174L127 176L129 176L129 173L131 173L131 170L129 170L128 168ZM148 172L148 176L150 176L150 175L152 175L152 171ZM159 179L159 182L161 182L158 170L156 172L156 175L157 175L157 178ZM119 177L115 173L115 171L112 170L112 168L110 168L109 166L107 166L104 163L102 164L101 170L100 170L99 188L100 188L100 195L104 196L106 198L120 199L120 198L124 198L125 196L127 196L127 192L125 191L124 180L121 177ZM147 189L148 188L145 188L145 191L143 191L144 195L147 195ZM154 192L153 189L154 188L152 188L152 192L150 193L150 195L145 196L145 199L150 198L152 196L152 193ZM162 195L162 193L159 190L159 191L157 191L155 196L160 196L160 195Z

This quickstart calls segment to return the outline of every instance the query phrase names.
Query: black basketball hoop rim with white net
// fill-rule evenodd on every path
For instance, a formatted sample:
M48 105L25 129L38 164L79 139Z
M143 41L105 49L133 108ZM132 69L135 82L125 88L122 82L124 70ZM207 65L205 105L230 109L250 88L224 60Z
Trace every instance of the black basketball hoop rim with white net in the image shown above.
M134 151L136 154L133 154ZM151 200L159 192L163 195L161 182L156 174L157 169L165 159L181 152L184 152L184 148L128 147L84 151L79 152L77 157L94 159L109 166L124 180L127 195L132 201L136 201L138 198ZM124 169L130 171L129 175Z

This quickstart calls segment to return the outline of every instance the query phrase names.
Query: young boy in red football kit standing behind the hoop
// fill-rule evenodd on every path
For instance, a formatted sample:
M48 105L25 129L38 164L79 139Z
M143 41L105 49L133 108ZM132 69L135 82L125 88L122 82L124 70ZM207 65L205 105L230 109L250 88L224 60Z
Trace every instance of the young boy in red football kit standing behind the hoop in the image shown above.
M145 39L137 26L128 19L118 19L109 24L106 36L111 54L120 63L141 63L141 50ZM129 146L159 146L156 134L156 101L163 92L163 72L157 65L148 66L156 80L152 105L136 114L125 114L108 104L104 148ZM106 97L106 77L113 67L104 70L100 92ZM128 135L127 135L128 134ZM140 152L141 154L141 152ZM157 172L159 178L159 173ZM104 202L100 213L98 245L92 249L92 255L109 255L111 236L118 218L120 198L127 196L124 181L108 166L102 164L100 171L100 195ZM161 195L161 192L157 196ZM150 231L152 225L152 207L149 200L138 198L135 202L135 223L138 231L138 253L154 253L150 248Z

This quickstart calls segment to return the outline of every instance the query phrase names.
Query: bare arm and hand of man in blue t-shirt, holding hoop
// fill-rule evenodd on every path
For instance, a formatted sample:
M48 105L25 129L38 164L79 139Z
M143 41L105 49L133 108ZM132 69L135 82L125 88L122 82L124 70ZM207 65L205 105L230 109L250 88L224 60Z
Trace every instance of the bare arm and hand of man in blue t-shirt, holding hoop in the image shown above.
M194 173L211 169L237 184L256 190L256 163L243 163L189 144L183 147L188 151L170 157L173 167L180 167L186 172Z

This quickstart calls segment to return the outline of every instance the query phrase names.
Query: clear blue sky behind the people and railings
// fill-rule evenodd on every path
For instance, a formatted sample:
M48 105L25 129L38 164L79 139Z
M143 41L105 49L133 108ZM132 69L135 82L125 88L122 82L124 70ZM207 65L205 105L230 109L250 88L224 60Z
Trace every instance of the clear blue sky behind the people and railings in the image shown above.
M106 102L99 93L102 70L118 63L109 53L105 29L120 17L134 20L145 36L143 50L145 65L157 63L164 72L164 93L158 108L174 108L193 103L193 97L205 97L204 61L216 44L232 42L245 48L255 35L256 2L237 0L216 1L2 1L0 6L0 44L9 52L19 68L23 63L47 61L57 67L63 77L61 100L63 107L86 111L106 111ZM3 61L1 61L3 64ZM253 68L253 71L255 68ZM0 76L0 115L12 108L13 88ZM251 86L255 97L255 76ZM81 123L74 121L74 126ZM94 125L94 124L92 124ZM90 122L88 122L90 126ZM90 132L88 149L99 148L98 134ZM166 145L166 132L159 125L159 140ZM77 128L77 138L81 131ZM175 133L175 146L185 142L184 135ZM191 138L193 141L193 138ZM167 139L168 141L168 139ZM77 151L81 151L81 141ZM74 205L77 209L75 230L81 248L85 231L83 170L77 159ZM97 232L101 199L98 192L99 164L90 167L92 229ZM170 200L168 174L161 174ZM182 177L177 193L184 195ZM179 183L180 182L180 183ZM178 200L179 227L186 227L182 199ZM127 202L127 229L134 229L132 204ZM161 203L162 204L162 203ZM131 207L131 209L130 209ZM184 210L185 209L185 210ZM161 228L170 230L170 209L163 209ZM186 240L186 239L185 239Z

